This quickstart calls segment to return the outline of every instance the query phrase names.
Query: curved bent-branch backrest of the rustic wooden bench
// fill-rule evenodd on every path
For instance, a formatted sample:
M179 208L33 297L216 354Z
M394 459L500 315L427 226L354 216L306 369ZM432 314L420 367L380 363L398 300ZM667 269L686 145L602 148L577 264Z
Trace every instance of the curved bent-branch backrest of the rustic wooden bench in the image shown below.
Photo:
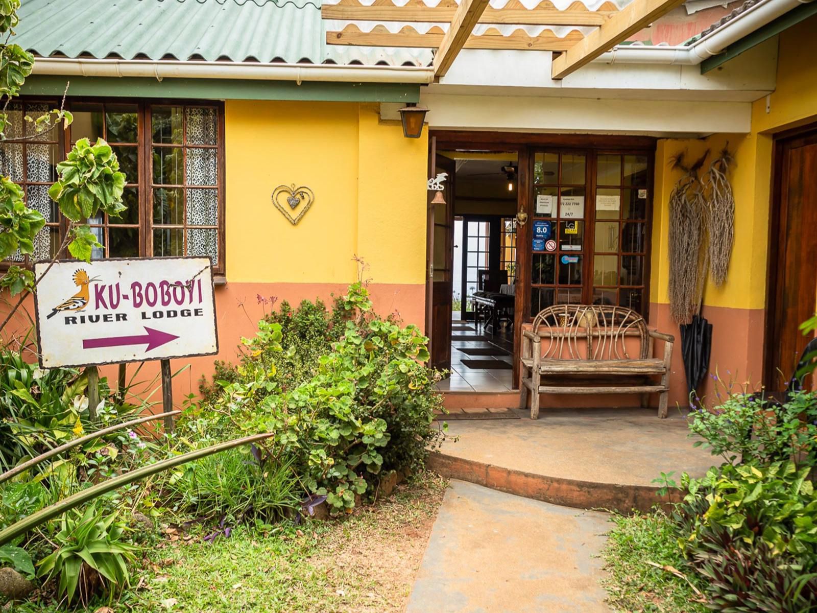
M650 355L644 318L625 307L595 304L547 307L534 317L533 332L542 338L543 358L645 360Z

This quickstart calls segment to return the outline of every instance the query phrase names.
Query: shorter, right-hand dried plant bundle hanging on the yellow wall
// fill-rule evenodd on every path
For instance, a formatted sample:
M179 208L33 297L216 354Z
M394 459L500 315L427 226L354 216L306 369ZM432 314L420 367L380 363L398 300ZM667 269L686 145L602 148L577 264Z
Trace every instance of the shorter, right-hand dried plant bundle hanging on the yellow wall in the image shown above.
M717 286L726 282L734 244L734 194L727 177L734 157L728 147L729 142L701 178L706 190L709 267Z

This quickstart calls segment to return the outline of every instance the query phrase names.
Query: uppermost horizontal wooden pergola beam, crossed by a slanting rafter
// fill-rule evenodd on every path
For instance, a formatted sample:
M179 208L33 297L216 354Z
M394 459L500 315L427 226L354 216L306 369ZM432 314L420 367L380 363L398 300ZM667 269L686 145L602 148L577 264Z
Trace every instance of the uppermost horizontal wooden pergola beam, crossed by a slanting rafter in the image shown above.
M320 14L324 19L343 21L400 21L406 23L450 23L457 12L457 3L442 0L436 7L429 7L422 0L408 0L403 7L391 0L375 0L364 6L358 0L341 0L338 4L324 4ZM542 0L537 7L527 9L519 0L511 0L501 9L486 7L478 23L514 25L601 25L618 8L605 2L597 11L589 10L583 2L574 2L560 11L549 0Z

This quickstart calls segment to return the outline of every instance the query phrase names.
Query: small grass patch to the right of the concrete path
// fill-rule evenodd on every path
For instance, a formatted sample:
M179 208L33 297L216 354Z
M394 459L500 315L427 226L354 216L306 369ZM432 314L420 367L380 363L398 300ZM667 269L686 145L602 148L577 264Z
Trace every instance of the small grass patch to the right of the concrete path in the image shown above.
M674 569L703 592L698 575L686 572L672 522L662 512L614 515L603 557L608 602L617 611L703 613L703 598ZM653 562L662 568L648 562Z

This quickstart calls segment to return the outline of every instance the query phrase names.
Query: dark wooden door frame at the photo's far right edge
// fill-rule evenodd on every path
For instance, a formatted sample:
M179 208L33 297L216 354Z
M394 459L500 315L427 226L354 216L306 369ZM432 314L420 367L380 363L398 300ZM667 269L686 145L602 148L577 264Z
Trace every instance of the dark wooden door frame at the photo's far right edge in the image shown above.
M778 365L775 361L775 351L770 339L779 331L783 316L781 302L783 302L783 284L779 268L772 266L778 262L784 237L781 235L787 226L786 216L788 206L783 209L784 193L788 189L787 151L792 144L801 139L817 136L817 122L809 123L799 128L792 128L779 132L772 137L771 154L771 194L769 201L769 252L766 260L766 309L763 325L763 377L762 383L769 389L774 388L775 372Z

